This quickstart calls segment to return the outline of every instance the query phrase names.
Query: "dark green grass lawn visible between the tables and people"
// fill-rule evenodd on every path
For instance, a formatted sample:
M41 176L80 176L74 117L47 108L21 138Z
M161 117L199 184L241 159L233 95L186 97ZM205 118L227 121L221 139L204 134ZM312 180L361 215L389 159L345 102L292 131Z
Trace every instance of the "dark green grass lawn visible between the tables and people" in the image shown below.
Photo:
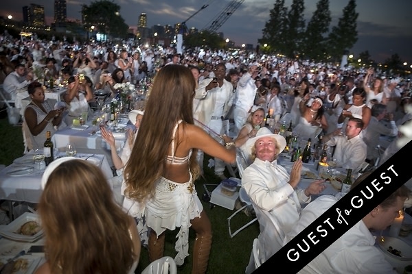
M2 112L0 112L2 114ZM13 162L15 158L23 155L23 135L21 133L21 126L14 126L8 123L7 116L1 116L0 118L0 164L8 166ZM209 157L205 155L205 162L209 160ZM207 168L205 164L205 179L207 184L218 184L220 179L214 175L213 169ZM229 174L226 174L229 177ZM205 184L203 178L198 179L196 184L196 190L198 196L201 198L203 192L203 184ZM213 190L213 186L210 186L209 191ZM227 218L233 214L232 210L221 208L220 206L214 206L211 208L209 203L202 201L203 207L207 212L207 216L211 221L213 231L213 243L211 246L211 253L209 256L209 266L207 273L244 273L249 262L249 256L251 254L253 238L256 238L259 234L258 222L253 223L249 227L245 228L230 238ZM242 212L237 214L231 221L232 230L242 227L245 223L251 221L253 217L246 216ZM171 256L174 258L176 251L174 251L174 244L176 242L176 234L179 228L173 232L167 232L165 238L165 256ZM178 269L179 274L191 273L192 271L192 252L193 242L195 238L194 230L190 229L189 238L189 256L185 260L185 264ZM148 251L145 248L141 249L140 262L137 266L135 273L141 273L141 271L148 266Z

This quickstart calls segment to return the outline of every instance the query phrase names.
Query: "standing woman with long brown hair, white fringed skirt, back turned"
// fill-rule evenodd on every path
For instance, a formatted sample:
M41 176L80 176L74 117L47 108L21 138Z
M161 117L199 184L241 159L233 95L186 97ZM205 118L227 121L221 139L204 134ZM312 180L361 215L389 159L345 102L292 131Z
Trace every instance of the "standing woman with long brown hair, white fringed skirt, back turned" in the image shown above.
M220 145L194 125L196 82L190 69L178 64L157 73L139 134L124 169L124 208L137 218L139 232L150 229L150 261L163 256L165 230L181 227L176 235L176 264L189 250L189 227L196 232L192 273L205 273L211 248L211 224L198 199L194 181L200 168L196 153L235 162L236 149ZM161 121L159 121L161 117Z

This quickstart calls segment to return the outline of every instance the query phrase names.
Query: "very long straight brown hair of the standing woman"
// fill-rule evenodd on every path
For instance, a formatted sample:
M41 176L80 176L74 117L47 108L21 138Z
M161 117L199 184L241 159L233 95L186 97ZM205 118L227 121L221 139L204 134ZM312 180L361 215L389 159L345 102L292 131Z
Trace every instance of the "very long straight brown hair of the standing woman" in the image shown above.
M185 66L170 64L157 73L139 134L124 169L126 197L142 202L154 195L155 182L165 171L165 157L172 142L174 126L183 120L184 131L185 123L194 123L192 105L195 88L192 72ZM176 134L176 140L183 138L185 136ZM179 145L175 144L175 150ZM193 180L199 170L194 149L190 158Z

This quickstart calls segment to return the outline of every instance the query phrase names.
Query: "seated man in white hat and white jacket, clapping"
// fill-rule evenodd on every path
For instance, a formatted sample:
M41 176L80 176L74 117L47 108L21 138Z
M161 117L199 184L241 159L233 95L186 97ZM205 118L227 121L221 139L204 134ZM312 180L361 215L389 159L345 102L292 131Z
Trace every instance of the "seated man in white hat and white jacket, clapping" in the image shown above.
M283 246L284 237L299 220L301 204L309 203L311 195L325 189L323 180L312 182L305 190L298 189L302 161L297 160L290 175L277 164L277 155L286 147L286 140L266 127L259 129L242 148L249 151L253 163L244 169L242 188L251 198L260 225L258 245L260 261L264 262ZM253 254L246 273L254 270Z

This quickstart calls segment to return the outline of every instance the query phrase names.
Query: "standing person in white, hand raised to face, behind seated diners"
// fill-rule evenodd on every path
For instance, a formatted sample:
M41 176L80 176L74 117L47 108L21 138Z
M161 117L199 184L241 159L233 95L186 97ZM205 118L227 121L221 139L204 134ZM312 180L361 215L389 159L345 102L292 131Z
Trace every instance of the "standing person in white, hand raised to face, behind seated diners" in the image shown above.
M258 76L258 64L249 66L249 71L240 77L236 86L236 99L234 101L233 117L235 121L234 134L237 136L246 122L249 110L255 101L256 90L255 77Z

